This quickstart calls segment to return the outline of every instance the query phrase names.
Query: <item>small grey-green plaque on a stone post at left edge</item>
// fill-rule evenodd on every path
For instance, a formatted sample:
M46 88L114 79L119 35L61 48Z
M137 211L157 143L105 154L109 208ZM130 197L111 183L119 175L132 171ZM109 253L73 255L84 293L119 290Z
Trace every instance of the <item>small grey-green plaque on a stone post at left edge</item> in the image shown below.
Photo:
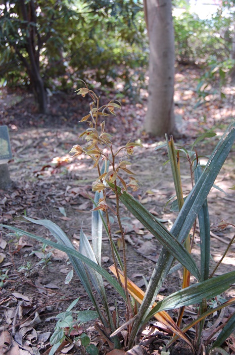
M12 159L12 150L7 126L0 126L0 189L6 190L12 186L8 161Z

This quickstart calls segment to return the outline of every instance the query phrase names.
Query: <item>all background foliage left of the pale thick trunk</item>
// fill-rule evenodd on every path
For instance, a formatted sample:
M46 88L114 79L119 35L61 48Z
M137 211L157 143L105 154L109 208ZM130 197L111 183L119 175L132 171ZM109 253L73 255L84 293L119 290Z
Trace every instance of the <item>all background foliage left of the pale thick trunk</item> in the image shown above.
M121 78L130 94L142 85L148 53L141 3L24 3L27 11L34 11L27 23L20 0L0 8L0 77L8 85L30 83L28 40L32 31L34 55L45 86L51 90L71 89L81 74L110 86Z

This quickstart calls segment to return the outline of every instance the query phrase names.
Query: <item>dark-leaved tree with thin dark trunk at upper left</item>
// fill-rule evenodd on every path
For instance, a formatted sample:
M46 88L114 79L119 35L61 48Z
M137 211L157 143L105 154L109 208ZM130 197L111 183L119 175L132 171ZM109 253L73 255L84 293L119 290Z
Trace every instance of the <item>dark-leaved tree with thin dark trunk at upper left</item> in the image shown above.
M4 71L14 75L17 66L26 70L26 77L41 113L47 111L46 91L40 73L42 58L45 63L51 47L54 48L54 55L60 53L63 35L58 35L57 28L62 19L68 23L74 15L62 0L14 0L5 1L1 5L2 62L8 63ZM52 58L50 55L50 60Z

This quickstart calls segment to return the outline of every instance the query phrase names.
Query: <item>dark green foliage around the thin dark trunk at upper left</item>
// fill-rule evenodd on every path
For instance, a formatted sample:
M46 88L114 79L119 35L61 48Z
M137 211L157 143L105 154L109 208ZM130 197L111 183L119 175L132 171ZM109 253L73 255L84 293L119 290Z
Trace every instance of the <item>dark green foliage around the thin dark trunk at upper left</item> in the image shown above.
M8 85L29 84L32 57L37 64L40 62L42 75L52 67L56 75L64 73L62 34L65 29L69 34L72 22L75 24L78 18L63 0L23 3L10 1L0 9L0 75Z

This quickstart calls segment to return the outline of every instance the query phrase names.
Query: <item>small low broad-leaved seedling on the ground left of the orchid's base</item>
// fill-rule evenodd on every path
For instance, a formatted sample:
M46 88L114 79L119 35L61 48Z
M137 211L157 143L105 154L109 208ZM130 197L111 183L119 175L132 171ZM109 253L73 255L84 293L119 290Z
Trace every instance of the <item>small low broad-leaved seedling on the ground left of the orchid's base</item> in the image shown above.
M99 350L95 344L90 343L89 336L81 327L84 323L98 318L98 313L92 310L80 311L74 319L72 308L76 305L79 298L71 303L65 312L57 314L58 322L55 331L51 336L50 342L53 347L49 355L53 355L64 341L73 343L78 347L82 354L98 355Z

